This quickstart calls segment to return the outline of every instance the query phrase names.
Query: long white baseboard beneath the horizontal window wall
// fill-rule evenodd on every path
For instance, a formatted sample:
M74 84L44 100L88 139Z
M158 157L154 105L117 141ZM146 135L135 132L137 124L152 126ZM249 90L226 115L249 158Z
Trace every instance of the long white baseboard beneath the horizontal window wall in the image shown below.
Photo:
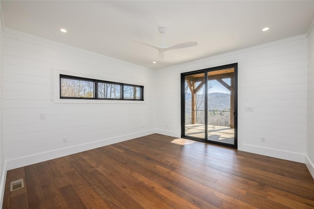
M151 129L151 130L147 130L147 131L143 131L143 132L133 133L130 135L123 135L123 136L119 136L119 137L103 139L103 140L99 140L99 141L93 141L90 143L79 144L77 146L66 147L66 148L62 148L62 149L58 149L58 150L52 150L50 152L37 153L34 155L25 156L23 158L11 159L11 160L6 161L6 170L11 170L11 169L15 169L15 168L35 164L35 163L49 161L52 159L64 157L67 155L76 154L79 152L83 152L86 150L95 149L98 147L118 143L121 141L126 141L126 140L130 140L130 139L135 139L138 137L147 136L147 135L154 134L154 133L156 133L156 130Z

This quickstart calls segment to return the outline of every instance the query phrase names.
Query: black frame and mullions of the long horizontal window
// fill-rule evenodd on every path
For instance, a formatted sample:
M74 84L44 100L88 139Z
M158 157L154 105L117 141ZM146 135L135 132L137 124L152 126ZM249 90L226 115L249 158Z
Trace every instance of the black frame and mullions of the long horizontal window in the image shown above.
M92 81L94 82L94 97L69 97L69 96L61 96L61 79L75 79L75 80L82 80L82 81ZM120 98L99 98L98 97L98 83L109 83L109 84L115 84L120 85ZM140 88L140 98L139 99L125 99L124 98L124 86L133 86L133 87L139 87ZM88 100L129 100L129 101L144 101L144 86L141 85L134 85L134 84L127 84L127 83L119 83L119 82L112 82L112 81L105 81L105 80L98 80L98 79L92 79L92 78L84 78L84 77L78 77L78 76L72 76L72 75L65 75L65 74L59 74L59 96L60 99L88 99Z

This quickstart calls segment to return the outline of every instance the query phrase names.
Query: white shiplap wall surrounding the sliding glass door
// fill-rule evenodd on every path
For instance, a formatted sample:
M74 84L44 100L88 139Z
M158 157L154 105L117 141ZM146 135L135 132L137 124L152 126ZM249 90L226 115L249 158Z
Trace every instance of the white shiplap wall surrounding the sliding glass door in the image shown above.
M232 63L238 63L238 149L304 163L306 35L158 70L157 132L181 135L180 73Z

